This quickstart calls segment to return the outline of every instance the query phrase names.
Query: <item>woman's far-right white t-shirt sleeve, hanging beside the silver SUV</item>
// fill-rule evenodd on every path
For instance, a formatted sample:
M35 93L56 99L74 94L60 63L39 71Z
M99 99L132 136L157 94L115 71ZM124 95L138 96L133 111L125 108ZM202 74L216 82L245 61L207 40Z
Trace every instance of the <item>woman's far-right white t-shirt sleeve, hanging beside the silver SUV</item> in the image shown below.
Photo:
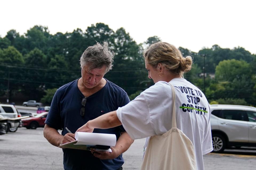
M208 106L210 108L210 106ZM209 110L209 114L211 113L211 111ZM206 129L206 133L204 135L204 140L203 140L203 147L202 147L202 152L203 155L208 154L209 152L213 151L213 143L212 143L212 139L211 139L211 122L210 122L210 117L208 119L208 124L207 124L207 129Z

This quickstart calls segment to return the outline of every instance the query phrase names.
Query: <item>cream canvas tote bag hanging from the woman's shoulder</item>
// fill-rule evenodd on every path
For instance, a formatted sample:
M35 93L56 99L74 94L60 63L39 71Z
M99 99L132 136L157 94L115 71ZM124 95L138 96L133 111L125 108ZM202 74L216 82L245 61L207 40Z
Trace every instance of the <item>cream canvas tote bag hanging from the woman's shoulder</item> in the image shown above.
M177 128L175 116L175 90L172 89L172 128L162 135L151 136L141 170L196 170L194 146L190 139Z

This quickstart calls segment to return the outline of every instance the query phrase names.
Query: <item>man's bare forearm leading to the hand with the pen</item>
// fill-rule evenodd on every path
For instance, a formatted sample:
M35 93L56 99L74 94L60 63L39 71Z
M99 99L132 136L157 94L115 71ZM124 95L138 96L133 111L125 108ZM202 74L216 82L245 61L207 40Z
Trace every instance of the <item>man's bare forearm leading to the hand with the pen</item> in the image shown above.
M47 139L49 143L54 146L59 146L61 140L63 139L63 136L59 134L56 129L51 128L47 124L45 125L45 128L43 130L43 136Z

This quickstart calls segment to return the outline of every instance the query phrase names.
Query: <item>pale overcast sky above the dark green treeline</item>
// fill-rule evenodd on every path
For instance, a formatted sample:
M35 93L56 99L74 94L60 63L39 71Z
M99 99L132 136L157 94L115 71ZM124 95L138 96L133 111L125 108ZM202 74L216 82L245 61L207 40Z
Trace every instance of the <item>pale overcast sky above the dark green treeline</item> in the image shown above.
M102 22L114 31L125 28L138 44L158 36L194 52L218 44L256 54L255 7L255 0L2 0L0 35L10 29L23 35L34 25L47 26L51 34L76 28L85 32Z

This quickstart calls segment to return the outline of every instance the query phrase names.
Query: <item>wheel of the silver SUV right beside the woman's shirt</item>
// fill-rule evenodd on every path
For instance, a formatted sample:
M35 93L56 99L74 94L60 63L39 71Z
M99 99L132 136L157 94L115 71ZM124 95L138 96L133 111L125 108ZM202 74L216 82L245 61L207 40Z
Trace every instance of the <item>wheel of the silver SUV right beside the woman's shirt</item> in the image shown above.
M212 134L213 152L221 153L226 148L226 139L220 134Z

